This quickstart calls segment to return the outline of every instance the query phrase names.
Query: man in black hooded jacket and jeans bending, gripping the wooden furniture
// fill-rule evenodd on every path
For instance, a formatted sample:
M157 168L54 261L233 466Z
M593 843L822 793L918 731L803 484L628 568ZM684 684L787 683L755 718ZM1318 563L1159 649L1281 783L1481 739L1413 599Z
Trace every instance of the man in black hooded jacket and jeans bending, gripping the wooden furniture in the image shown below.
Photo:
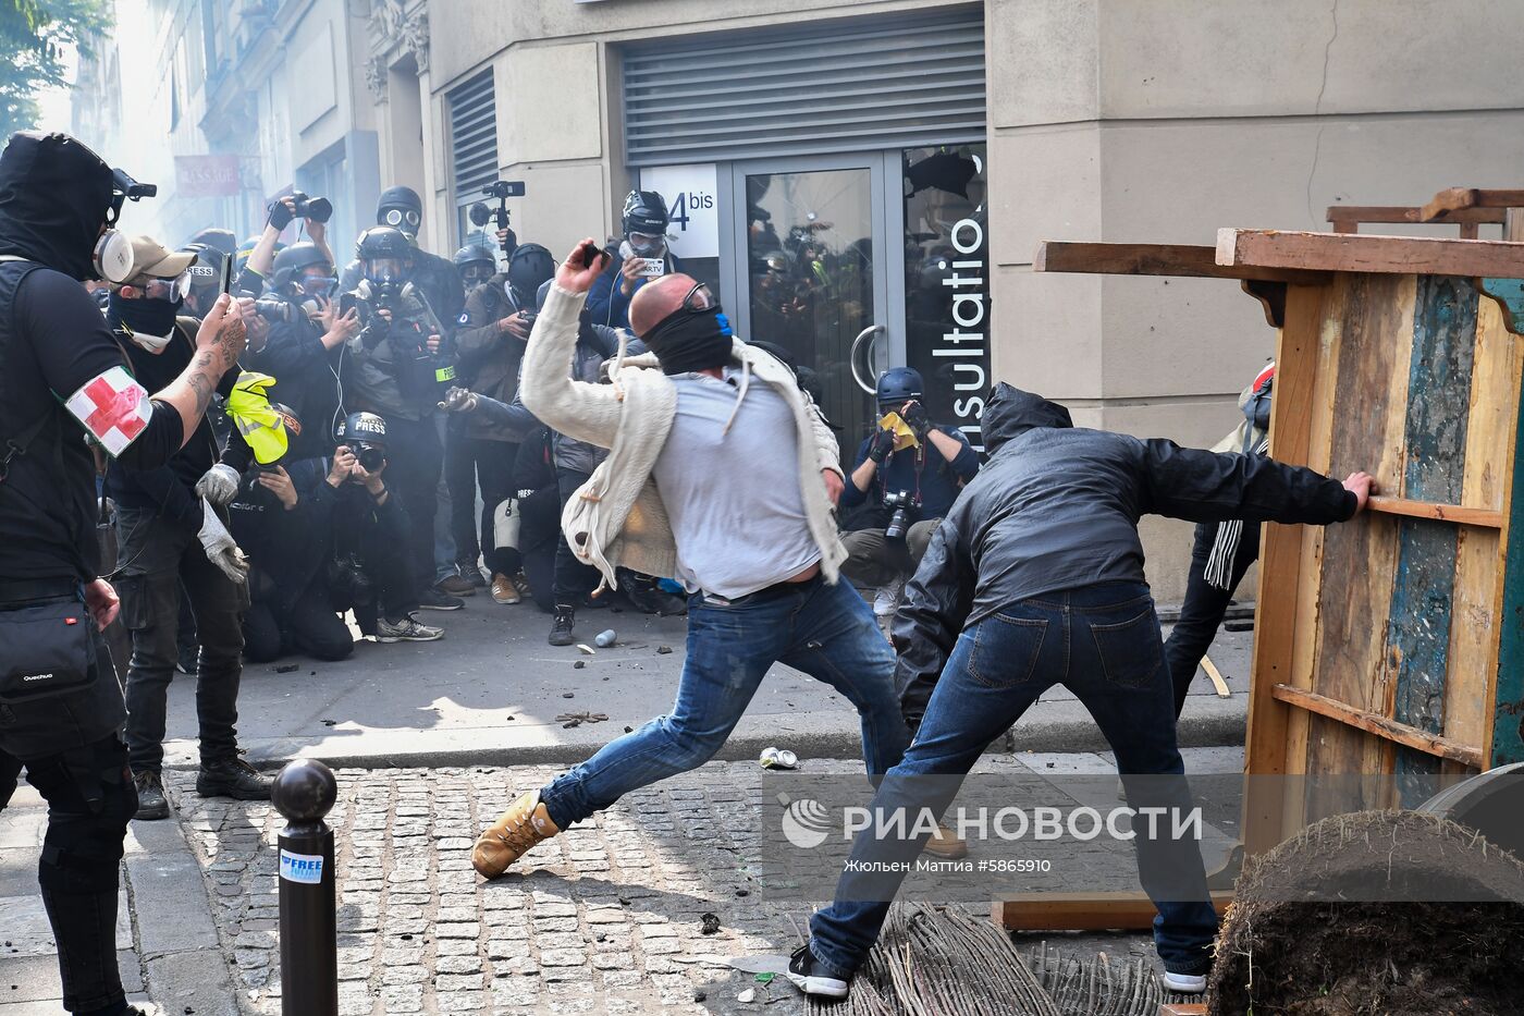
M937 528L895 618L896 685L919 729L873 813L940 816L985 748L1055 683L1100 726L1134 810L1189 813L1138 519L1346 522L1366 505L1370 476L1341 485L1256 456L1079 429L1062 406L1009 384L995 386L983 427L991 459ZM1164 987L1202 992L1218 918L1201 851L1138 827ZM904 877L884 873L913 863L925 841L870 830L853 844L837 902L811 918L812 937L794 953L789 979L808 993L847 995Z

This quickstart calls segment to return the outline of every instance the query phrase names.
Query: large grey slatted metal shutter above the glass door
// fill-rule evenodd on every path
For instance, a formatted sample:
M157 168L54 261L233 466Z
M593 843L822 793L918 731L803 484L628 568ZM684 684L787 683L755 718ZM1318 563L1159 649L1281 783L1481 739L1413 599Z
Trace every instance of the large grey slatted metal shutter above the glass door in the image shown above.
M983 140L985 14L632 44L623 95L631 166Z

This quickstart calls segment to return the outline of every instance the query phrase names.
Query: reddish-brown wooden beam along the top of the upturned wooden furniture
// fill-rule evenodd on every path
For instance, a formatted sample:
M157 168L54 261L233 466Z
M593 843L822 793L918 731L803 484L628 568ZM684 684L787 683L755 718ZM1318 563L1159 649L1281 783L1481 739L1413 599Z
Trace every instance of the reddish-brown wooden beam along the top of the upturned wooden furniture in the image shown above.
M1241 270L1379 272L1519 279L1524 278L1524 243L1219 229L1216 261L1219 265Z

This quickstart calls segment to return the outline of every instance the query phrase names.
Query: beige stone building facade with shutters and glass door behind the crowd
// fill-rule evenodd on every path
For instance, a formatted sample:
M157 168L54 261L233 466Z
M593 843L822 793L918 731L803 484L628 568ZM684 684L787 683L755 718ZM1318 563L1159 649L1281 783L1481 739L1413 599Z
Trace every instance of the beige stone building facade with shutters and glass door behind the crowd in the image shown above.
M1329 204L1524 165L1524 5L1487 0L148 2L172 240L253 232L299 186L334 198L338 249L401 183L448 256L503 178L520 240L559 256L655 189L739 331L815 371L847 452L863 381L901 363L975 444L1009 380L1081 426L1210 445L1274 351L1259 305L1033 273L1041 240L1326 229ZM195 197L229 160L236 194ZM1189 528L1145 537L1178 596Z

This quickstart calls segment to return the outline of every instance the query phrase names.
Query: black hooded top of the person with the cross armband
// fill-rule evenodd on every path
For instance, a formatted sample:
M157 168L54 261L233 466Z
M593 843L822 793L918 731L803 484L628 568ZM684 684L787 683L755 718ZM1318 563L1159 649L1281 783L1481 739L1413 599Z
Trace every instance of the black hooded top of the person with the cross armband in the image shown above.
M0 468L0 583L101 574L94 462L64 400L125 366L79 284L110 203L110 166L72 137L15 134L0 156L0 449L26 444ZM180 442L155 403L117 464L157 468Z

